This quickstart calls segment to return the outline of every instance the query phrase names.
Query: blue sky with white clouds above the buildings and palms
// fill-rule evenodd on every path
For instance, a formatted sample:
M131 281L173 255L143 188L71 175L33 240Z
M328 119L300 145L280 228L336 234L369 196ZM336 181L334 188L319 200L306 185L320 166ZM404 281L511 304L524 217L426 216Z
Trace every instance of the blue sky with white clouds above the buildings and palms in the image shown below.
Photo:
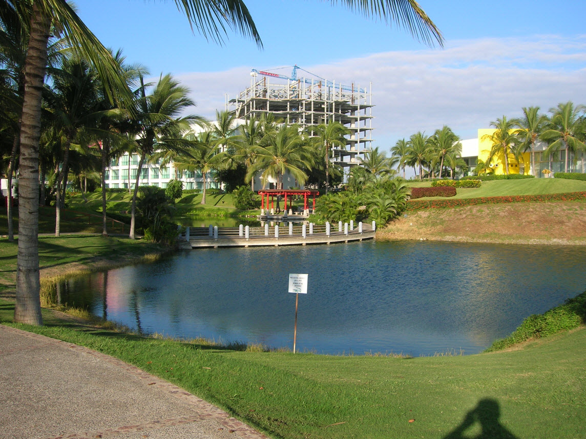
M190 113L208 119L250 86L251 69L290 75L293 65L336 83L372 83L373 146L385 151L417 131L448 125L471 139L522 107L586 104L584 0L420 0L444 48L328 1L245 0L263 49L230 30L222 45L207 41L171 0L74 3L105 46L153 80L172 73L192 90Z

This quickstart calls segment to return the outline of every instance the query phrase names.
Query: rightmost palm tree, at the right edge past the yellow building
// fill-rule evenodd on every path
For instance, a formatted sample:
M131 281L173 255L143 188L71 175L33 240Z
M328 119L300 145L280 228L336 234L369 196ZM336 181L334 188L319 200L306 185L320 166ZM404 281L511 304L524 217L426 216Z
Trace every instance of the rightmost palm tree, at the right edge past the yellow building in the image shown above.
M565 148L564 172L568 172L568 156L571 152L586 151L586 144L579 139L580 137L580 113L584 113L586 107L577 105L574 107L573 102L558 104L557 108L550 109L551 124L546 131L541 134L541 139L546 140L550 145L546 153L551 157L553 151Z

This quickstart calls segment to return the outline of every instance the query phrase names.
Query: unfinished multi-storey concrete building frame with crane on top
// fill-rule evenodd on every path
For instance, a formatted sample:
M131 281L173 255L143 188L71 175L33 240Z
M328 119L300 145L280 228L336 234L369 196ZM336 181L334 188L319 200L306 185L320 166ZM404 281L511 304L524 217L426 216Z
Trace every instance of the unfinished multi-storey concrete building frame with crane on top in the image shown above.
M359 85L338 84L309 72L306 73L311 77L298 77L297 70L303 69L294 66L289 77L253 69L250 87L229 101L236 117L249 120L252 116L273 113L287 124L299 124L302 129L339 121L350 134L344 147L332 149L330 159L342 167L359 164L358 159L371 150L373 141L372 94Z

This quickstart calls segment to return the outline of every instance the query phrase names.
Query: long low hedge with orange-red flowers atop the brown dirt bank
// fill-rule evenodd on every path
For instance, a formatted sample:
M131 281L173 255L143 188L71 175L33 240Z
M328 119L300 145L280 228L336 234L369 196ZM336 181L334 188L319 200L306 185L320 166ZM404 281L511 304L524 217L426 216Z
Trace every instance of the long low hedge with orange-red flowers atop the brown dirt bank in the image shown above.
M413 188L415 189L415 188ZM407 201L407 210L445 209L478 204L502 204L507 202L546 202L586 200L586 192L543 195L509 195L508 197L458 198L456 200L415 200Z

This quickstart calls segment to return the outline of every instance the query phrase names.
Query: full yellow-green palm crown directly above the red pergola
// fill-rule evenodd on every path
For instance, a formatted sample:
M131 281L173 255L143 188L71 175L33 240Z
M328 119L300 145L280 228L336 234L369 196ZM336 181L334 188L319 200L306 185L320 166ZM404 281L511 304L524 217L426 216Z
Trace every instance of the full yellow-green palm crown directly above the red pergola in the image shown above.
M312 164L307 143L296 125L282 125L277 131L264 137L263 146L256 148L258 160L248 168L247 178L262 171L263 185L269 177L273 177L277 180L277 189L282 189L283 175L288 172L300 184L304 184L307 179L304 168L311 167Z

